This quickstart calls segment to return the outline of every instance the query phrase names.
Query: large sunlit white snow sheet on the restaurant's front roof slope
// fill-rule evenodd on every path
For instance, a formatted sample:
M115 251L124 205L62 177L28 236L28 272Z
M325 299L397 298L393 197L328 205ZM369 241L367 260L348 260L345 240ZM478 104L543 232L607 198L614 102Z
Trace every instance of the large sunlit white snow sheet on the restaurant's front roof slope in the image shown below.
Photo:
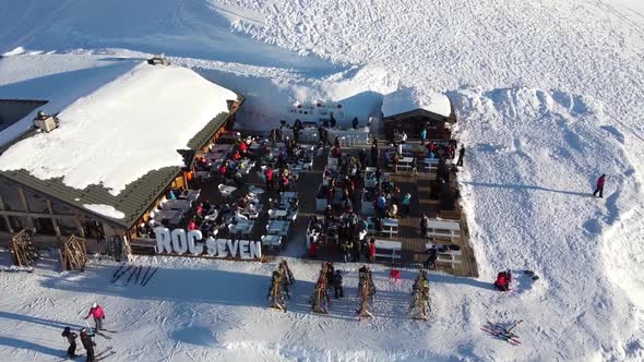
M142 63L64 109L57 130L11 146L0 169L118 195L151 170L181 166L177 149L236 98L192 70Z

